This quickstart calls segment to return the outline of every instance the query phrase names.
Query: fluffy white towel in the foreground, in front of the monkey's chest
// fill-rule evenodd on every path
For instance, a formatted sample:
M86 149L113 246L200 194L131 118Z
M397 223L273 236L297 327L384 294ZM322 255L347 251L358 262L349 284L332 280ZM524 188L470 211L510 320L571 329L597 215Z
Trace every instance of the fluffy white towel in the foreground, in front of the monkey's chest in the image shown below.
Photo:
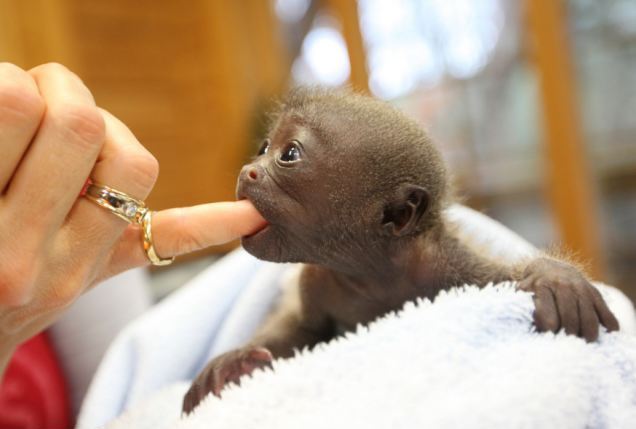
M634 319L622 294L599 288L619 319ZM455 288L278 360L187 418L178 385L108 429L633 427L633 323L588 344L536 334L532 311L511 283Z

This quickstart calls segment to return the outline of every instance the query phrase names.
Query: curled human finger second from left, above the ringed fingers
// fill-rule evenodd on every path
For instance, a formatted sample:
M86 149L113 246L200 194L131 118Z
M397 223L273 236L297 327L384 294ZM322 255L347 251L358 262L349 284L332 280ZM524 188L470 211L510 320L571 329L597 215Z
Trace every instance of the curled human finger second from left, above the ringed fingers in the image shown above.
M13 219L51 233L64 222L104 142L90 91L65 67L30 71L46 103L40 128L6 191Z

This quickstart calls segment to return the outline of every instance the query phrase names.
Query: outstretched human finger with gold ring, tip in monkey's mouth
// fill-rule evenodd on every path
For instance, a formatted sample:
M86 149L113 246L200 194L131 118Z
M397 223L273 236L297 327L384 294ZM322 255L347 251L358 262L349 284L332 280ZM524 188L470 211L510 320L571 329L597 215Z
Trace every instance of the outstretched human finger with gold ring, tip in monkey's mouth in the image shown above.
M152 217L152 236L157 254L178 256L253 234L267 221L247 200L168 209ZM148 264L141 231L129 227L120 239L106 275Z

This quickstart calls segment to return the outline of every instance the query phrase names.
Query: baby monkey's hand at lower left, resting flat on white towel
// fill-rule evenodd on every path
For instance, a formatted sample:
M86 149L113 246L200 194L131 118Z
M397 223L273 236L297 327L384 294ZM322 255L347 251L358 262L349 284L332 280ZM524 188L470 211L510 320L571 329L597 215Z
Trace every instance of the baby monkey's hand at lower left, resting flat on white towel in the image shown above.
M197 375L183 398L182 411L189 414L210 392L221 397L228 383L240 385L240 378L257 368L271 367L272 354L264 347L248 346L214 358Z

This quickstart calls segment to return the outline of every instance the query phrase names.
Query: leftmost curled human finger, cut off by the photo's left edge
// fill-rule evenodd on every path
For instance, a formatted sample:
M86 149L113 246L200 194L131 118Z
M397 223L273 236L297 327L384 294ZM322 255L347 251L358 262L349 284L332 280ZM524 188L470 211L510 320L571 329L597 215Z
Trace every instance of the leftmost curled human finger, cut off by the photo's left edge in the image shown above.
M18 66L0 63L0 194L29 147L44 108L33 77Z

